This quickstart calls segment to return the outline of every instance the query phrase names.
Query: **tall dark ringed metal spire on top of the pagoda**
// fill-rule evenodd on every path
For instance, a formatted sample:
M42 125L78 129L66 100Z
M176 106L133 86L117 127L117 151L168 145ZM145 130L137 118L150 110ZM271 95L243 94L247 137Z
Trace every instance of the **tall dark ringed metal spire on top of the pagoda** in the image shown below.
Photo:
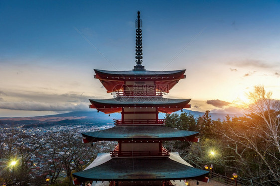
M140 29L140 27L142 27L142 20L140 19L140 11L138 11L137 12L138 13L138 16L137 16L137 18L138 19L136 19L135 20L135 27L137 27L137 29L136 29L136 59L137 60L135 60L135 62L137 63L137 65L136 66L134 66L134 69L133 70L145 70L144 68L144 66L142 66L141 64L142 64L142 59L143 59L143 57L142 57L142 55L143 55L143 53L142 53L142 30Z

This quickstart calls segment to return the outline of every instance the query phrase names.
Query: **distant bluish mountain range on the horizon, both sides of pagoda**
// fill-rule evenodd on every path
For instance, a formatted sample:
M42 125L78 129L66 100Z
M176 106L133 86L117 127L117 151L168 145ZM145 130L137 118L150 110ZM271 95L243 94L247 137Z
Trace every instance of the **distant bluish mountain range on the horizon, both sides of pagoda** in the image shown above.
M194 117L202 116L204 112L191 111L183 109L184 112L191 113ZM180 114L180 111L176 113ZM226 115L231 117L241 116L242 114L222 114L210 113L211 118L223 120ZM158 115L159 119L163 119L164 113ZM104 114L103 112L94 111L74 111L63 114L35 116L35 117L0 117L0 126L24 124L27 126L46 126L46 125L70 125L70 124L92 124L104 125L113 124L113 119L121 119L120 113Z

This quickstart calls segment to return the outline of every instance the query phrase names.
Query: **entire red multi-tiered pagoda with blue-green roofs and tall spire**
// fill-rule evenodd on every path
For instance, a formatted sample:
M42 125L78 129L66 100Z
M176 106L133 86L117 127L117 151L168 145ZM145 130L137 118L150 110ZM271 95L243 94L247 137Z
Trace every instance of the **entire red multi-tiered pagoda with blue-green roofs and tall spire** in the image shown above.
M98 154L83 171L74 173L73 183L87 181L107 183L110 186L173 186L175 180L192 179L208 182L208 171L193 168L178 153L162 146L163 141L182 140L198 142L199 132L166 127L158 112L172 113L190 108L190 99L164 98L179 80L185 79L185 70L147 71L142 63L142 33L140 11L136 20L136 63L132 71L95 69L98 79L112 93L111 99L89 99L90 108L106 114L121 112L113 128L82 133L83 143L117 141L111 153ZM178 184L177 184L178 186Z

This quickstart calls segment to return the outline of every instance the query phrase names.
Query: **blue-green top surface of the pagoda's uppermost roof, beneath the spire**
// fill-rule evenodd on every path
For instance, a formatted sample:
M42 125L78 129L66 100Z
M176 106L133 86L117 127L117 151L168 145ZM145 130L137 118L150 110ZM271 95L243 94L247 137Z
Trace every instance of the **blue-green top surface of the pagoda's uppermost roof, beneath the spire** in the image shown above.
M106 75L115 75L115 76L170 76L175 74L184 74L186 69L175 70L175 71L107 71L94 69L96 74L106 74ZM161 77L161 76L160 76Z

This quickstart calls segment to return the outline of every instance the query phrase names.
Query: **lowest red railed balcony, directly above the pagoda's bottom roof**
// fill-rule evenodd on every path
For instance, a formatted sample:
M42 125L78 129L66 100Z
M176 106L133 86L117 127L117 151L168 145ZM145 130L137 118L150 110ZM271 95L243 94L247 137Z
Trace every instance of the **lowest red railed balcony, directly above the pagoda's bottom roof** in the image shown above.
M119 151L119 145L111 151L112 157L168 157L170 152L164 147L161 151Z

